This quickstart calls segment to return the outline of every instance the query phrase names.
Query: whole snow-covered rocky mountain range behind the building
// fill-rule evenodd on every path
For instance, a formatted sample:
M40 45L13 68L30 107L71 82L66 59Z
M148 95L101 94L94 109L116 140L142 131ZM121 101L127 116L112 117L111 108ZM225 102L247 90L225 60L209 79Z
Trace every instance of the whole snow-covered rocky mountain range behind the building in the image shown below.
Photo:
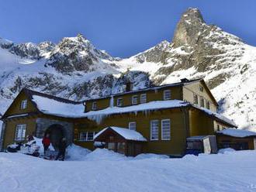
M220 112L240 128L256 125L256 48L217 26L207 25L198 9L188 9L175 36L137 55L120 59L97 50L81 34L50 42L12 43L0 39L0 112L22 87L82 100L204 77L220 102Z

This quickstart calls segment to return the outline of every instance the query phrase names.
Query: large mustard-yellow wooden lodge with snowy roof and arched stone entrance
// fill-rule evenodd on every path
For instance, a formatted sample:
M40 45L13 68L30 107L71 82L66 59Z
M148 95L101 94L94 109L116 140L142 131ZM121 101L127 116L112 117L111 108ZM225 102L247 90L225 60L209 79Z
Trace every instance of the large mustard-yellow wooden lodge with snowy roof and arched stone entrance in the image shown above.
M83 102L22 89L2 116L2 148L24 141L26 135L42 138L50 133L54 146L61 137L66 137L68 143L88 149L95 149L95 145L104 142L104 147L119 153L126 150L126 155L182 156L186 138L214 135L226 127L236 127L233 121L216 113L216 99L202 79L182 79L175 84L137 91L131 91L130 86L126 84L124 93ZM107 139L99 141L103 138L100 135L94 141L96 134L112 126L137 132L146 141L128 139L123 142L125 135L113 131L106 132ZM126 146L126 143L132 144ZM138 147L136 143L140 143Z

